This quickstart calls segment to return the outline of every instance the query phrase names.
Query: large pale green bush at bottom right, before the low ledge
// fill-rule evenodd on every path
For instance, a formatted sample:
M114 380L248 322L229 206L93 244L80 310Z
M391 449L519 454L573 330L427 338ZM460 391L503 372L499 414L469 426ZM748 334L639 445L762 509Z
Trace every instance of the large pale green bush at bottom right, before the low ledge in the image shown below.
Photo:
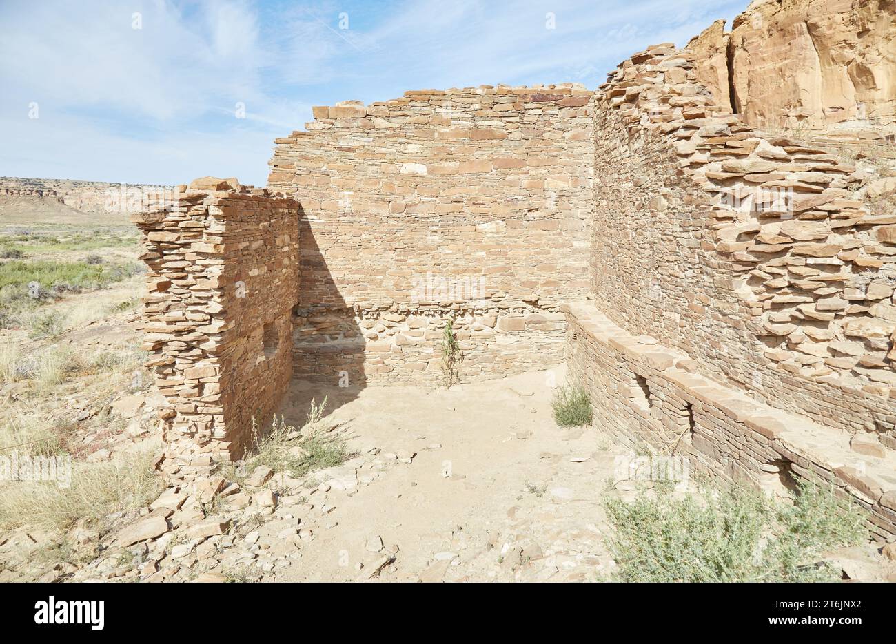
M793 506L740 486L633 502L604 499L619 581L831 581L825 550L868 538L864 519L830 487L800 482Z

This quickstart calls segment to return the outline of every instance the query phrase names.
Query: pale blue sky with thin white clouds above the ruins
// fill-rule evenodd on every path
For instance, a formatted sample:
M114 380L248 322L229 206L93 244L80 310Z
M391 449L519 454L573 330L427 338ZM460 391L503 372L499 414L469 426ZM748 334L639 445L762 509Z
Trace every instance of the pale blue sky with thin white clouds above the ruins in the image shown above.
M313 105L596 88L633 52L684 45L746 4L0 0L0 176L264 185L274 138L304 129Z

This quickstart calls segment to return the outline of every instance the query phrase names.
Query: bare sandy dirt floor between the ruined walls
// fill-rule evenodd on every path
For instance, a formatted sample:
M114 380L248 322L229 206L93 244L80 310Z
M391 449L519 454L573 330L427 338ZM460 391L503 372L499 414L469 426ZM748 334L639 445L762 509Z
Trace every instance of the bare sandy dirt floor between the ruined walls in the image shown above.
M596 579L609 562L599 496L624 451L594 428L557 427L549 376L451 391L297 385L284 413L328 395L359 455L319 474L299 521L314 537L276 579L363 580L380 567L381 580Z

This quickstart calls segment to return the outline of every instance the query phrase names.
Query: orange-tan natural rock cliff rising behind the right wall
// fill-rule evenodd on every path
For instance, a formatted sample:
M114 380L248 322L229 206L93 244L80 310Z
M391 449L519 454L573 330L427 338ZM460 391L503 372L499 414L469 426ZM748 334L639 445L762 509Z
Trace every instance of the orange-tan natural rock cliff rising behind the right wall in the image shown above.
M894 125L894 19L896 0L756 0L729 34L717 21L687 48L751 125Z

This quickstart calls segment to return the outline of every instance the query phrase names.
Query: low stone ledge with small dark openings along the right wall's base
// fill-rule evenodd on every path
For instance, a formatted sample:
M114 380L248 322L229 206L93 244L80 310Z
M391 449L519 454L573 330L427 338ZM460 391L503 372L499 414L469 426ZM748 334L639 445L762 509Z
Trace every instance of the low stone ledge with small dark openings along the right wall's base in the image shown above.
M620 329L590 302L564 305L568 377L591 396L594 423L635 448L681 456L708 477L783 491L818 477L896 535L896 454L860 435L771 408L697 372L693 359Z

